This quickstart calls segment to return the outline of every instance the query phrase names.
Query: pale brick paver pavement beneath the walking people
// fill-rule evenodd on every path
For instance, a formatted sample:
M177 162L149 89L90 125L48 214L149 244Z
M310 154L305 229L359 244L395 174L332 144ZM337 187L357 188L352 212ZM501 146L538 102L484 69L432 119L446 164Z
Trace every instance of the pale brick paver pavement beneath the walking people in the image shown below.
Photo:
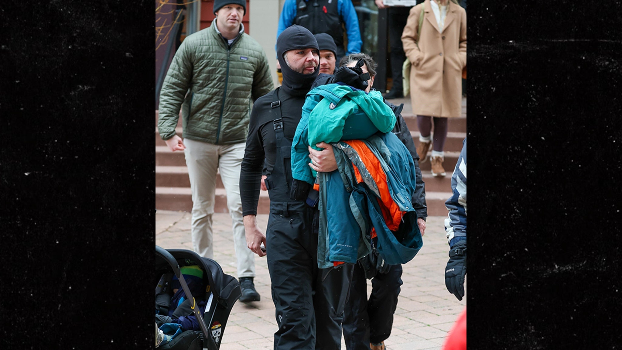
M257 216L259 227L264 232L267 218L268 215ZM448 245L443 229L444 219L427 218L424 246L411 262L403 266L404 285L397 302L393 329L389 339L384 341L388 350L441 349L447 332L466 305L466 298L458 301L445 288L443 270L447 264ZM225 273L237 277L229 214L214 214L213 230L214 259ZM190 213L157 210L156 244L162 248L192 250ZM261 301L249 304L238 301L233 306L221 350L273 348L277 325L266 258L256 257L255 266L255 287L261 294ZM368 280L369 291L371 282ZM345 349L343 338L341 344L341 348Z

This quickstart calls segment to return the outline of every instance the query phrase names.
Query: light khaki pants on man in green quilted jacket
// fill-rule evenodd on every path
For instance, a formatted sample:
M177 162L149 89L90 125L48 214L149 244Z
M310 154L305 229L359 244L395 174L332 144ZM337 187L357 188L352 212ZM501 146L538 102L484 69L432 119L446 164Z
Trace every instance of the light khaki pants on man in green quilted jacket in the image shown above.
M192 189L192 245L202 257L213 258L211 216L214 214L216 172L225 185L227 207L233 222L233 244L238 260L238 278L255 277L254 253L246 245L239 197L239 171L245 143L217 145L184 139L184 151Z

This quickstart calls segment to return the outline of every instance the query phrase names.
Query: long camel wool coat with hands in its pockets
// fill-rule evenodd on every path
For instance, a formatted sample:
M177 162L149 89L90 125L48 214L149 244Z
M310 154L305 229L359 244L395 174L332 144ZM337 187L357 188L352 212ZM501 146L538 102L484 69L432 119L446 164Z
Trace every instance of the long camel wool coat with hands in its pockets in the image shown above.
M417 27L425 5L421 39ZM447 1L443 31L430 0L412 7L402 32L404 52L411 60L411 101L415 115L459 117L462 111L462 69L466 67L466 11Z

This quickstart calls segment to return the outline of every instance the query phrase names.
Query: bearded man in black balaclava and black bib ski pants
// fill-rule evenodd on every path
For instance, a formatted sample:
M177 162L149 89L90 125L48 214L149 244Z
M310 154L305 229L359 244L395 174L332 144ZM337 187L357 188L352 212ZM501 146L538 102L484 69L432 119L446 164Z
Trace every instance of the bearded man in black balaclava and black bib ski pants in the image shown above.
M353 268L351 264L318 268L317 202L307 197L310 186L292 180L292 139L305 95L318 75L318 53L317 40L302 26L291 26L279 35L277 57L283 83L253 105L240 174L246 242L259 257L267 255L279 326L274 349L278 350L341 348L341 321ZM330 146L324 148L318 153L330 153L334 161ZM266 235L256 222L264 159L270 197ZM320 164L316 169L332 171L337 166Z

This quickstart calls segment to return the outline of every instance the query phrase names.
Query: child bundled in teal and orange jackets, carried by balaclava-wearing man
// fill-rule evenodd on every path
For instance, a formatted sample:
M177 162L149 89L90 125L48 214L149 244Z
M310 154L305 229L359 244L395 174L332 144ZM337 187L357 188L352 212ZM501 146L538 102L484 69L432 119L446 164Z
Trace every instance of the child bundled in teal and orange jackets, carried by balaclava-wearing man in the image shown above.
M335 73L335 76L338 72ZM412 158L389 133L396 116L381 93L328 83L307 94L292 147L292 176L320 191L318 267L355 263L371 238L387 263L406 263L422 245L411 196ZM333 143L338 171L315 173L308 146ZM316 181L317 178L317 181ZM298 196L297 186L292 196ZM304 192L304 191L298 191ZM404 223L404 225L401 225Z

